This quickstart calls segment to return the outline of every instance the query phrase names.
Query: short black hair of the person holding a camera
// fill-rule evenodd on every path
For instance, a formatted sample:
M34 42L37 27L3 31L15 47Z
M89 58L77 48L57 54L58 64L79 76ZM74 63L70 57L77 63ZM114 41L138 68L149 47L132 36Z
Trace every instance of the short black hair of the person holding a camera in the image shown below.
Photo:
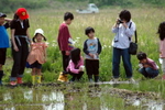
M129 10L122 10L122 11L120 12L120 14L119 14L119 18L120 18L121 20L125 20L125 21L130 22L130 20L131 20L131 13L130 13Z

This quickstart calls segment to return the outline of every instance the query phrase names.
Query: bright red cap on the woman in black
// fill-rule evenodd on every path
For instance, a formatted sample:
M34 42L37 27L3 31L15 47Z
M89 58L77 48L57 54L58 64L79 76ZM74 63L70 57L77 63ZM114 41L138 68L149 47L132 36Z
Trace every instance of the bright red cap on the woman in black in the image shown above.
M26 9L24 9L24 8L19 8L19 9L16 10L16 14L19 15L19 18L20 18L21 20L29 19L29 14L28 14L28 12L26 12Z

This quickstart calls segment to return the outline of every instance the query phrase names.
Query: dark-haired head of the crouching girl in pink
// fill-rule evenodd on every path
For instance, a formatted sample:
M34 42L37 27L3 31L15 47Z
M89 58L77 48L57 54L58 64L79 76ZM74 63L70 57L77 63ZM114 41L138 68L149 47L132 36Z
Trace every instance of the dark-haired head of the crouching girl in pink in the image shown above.
M80 61L80 48L74 48L70 52L70 58L74 62L74 64L78 64L78 62Z

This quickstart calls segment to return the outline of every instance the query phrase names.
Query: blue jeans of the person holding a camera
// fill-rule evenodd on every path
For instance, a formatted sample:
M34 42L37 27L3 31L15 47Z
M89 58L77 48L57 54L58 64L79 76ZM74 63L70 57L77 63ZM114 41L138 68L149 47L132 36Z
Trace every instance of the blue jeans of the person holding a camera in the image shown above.
M114 78L119 78L119 66L120 66L120 58L122 57L123 66L125 69L125 74L128 78L132 77L132 64L131 64L131 56L129 54L129 48L116 48L113 47L113 61L112 61L112 74Z

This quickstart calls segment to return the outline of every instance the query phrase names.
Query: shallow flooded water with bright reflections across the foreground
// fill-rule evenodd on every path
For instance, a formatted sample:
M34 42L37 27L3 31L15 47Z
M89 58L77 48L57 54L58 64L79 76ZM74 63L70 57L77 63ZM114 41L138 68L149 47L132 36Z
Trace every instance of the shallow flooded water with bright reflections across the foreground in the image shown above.
M135 99L133 96L125 100L103 92L99 85L90 85L85 91L81 89L73 87L64 91L54 89L44 91L30 88L16 92L8 91L2 94L2 98L3 101L11 103L0 105L0 110L116 110L118 102L121 101L123 105L141 107L143 110L164 110L163 101ZM18 99L22 101L16 103Z

